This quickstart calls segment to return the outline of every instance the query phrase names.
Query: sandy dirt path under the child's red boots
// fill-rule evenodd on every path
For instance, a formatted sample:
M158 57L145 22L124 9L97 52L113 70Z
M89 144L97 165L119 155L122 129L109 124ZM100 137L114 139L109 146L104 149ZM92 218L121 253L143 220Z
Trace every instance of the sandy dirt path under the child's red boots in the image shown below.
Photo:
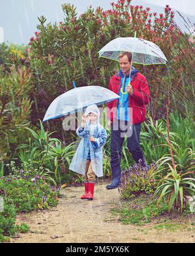
M110 208L121 204L118 190L107 190L105 184L99 184L93 201L81 201L83 190L64 188L56 208L18 214L17 223L27 223L30 231L10 242L195 242L190 229L173 232L157 231L149 225L123 225L110 214Z

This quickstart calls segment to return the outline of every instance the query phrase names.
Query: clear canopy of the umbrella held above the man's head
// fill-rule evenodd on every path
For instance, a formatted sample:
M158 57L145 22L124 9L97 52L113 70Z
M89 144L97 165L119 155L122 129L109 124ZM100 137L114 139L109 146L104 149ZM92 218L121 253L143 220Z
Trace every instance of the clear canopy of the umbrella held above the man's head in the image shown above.
M118 55L122 51L133 53L132 63L135 64L166 64L167 61L159 46L136 37L115 38L99 51L99 57L118 61Z

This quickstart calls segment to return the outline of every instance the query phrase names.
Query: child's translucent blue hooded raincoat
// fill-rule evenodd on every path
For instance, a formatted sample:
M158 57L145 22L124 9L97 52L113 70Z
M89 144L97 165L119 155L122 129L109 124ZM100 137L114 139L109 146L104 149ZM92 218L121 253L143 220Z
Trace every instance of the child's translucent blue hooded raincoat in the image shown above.
M95 104L88 106L86 108L85 115L87 116L88 113L90 112L94 113L94 115L97 115L98 118L96 120L96 124L92 125L90 121L86 120L86 124L84 128L82 128L81 126L78 126L76 133L82 139L73 156L69 169L71 169L72 171L75 171L76 173L85 175L86 159L88 159L88 155L90 152L92 169L98 177L102 177L103 176L102 147L106 143L107 132L105 131L105 128L103 128L103 126L99 124L99 109ZM89 136L93 136L95 138L95 143L92 141L89 141Z

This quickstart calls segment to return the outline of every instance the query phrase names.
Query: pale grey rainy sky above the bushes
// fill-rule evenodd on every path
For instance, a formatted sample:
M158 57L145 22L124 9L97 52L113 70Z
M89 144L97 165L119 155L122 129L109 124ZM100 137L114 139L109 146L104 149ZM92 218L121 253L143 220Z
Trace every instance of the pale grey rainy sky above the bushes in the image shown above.
M38 17L45 16L47 23L63 21L62 3L71 3L77 7L77 14L85 12L87 7L110 8L117 0L0 0L0 43L27 44L37 31ZM195 0L132 0L132 5L151 7L152 12L162 13L166 5L175 10L192 15L195 22ZM194 16L194 17L193 17ZM177 20L176 20L177 21Z

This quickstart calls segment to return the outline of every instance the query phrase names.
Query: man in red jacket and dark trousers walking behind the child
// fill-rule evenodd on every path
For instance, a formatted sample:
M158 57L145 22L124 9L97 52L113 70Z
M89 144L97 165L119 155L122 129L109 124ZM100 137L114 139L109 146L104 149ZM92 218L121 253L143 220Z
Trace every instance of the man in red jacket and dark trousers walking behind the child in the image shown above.
M127 147L136 163L142 160L142 166L147 166L142 149L140 149L141 123L146 116L146 104L150 102L149 87L146 78L135 68L131 68L132 55L123 52L119 55L120 72L112 76L109 82L110 91L120 95L120 99L107 104L107 119L110 120L110 164L112 184L107 189L117 188L120 184L123 134L127 135ZM131 76L130 74L131 68Z

